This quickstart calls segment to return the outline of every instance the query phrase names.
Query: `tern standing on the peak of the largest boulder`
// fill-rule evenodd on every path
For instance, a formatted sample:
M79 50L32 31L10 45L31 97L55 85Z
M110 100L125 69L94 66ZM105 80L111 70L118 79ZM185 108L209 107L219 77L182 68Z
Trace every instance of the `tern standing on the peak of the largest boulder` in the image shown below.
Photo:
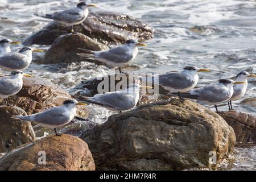
M142 78L142 81L154 82L162 86L164 89L168 90L170 93L180 93L188 92L195 88L199 77L199 72L209 72L209 69L199 69L197 67L184 67L182 71L179 72L167 72L163 74L156 75L152 77L151 81L148 81L146 77ZM158 78L156 78L158 77Z

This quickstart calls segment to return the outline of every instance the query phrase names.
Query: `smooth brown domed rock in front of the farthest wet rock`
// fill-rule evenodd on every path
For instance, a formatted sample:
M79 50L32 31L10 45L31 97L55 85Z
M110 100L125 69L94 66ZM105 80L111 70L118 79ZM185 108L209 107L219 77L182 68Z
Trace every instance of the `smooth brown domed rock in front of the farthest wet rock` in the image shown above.
M97 41L80 33L66 34L59 36L59 38L57 38L52 43L52 46L48 49L46 55L44 55L43 60L39 61L38 63L55 64L84 61L85 59L80 59L77 55L77 52L79 52L77 48L90 49L92 51L101 51L103 49L108 49L108 46L98 43ZM99 62L97 63L99 64Z

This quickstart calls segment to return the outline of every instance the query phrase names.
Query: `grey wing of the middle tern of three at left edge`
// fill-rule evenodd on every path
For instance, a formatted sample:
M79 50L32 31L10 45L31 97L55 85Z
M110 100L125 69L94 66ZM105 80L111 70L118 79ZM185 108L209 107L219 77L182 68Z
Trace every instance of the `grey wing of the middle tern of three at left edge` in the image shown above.
M20 69L26 64L24 61L21 61L25 58L24 55L14 52L9 53L3 56L0 56L0 67L6 67L11 69Z

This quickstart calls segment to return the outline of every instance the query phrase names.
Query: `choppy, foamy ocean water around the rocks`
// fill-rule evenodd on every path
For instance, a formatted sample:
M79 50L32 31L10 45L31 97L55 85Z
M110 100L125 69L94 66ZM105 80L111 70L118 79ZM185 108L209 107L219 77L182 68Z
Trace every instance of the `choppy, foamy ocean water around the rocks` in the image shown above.
M33 14L51 13L76 5L79 1L62 0L0 0L0 38L22 41L49 22ZM256 74L256 2L235 0L113 0L92 1L98 5L92 11L113 11L142 19L155 28L155 38L139 49L137 58L123 68L125 72L162 73L179 71L186 65L196 65L211 71L200 73L199 86L220 78L234 78L240 71ZM22 47L13 46L15 51ZM36 47L36 46L35 46ZM38 46L39 48L47 48ZM58 65L32 63L28 73L51 80L69 91L82 80L110 73L104 66L82 62ZM245 96L235 101L234 109L256 112L256 79L251 78ZM248 101L249 100L249 101ZM102 123L111 111L89 106L90 119ZM210 107L213 109L213 107ZM223 104L220 110L228 110ZM97 117L95 117L97 115ZM243 158L246 152L248 158ZM250 157L249 157L250 156ZM237 147L229 169L254 169L255 147ZM225 169L225 165L223 167Z

